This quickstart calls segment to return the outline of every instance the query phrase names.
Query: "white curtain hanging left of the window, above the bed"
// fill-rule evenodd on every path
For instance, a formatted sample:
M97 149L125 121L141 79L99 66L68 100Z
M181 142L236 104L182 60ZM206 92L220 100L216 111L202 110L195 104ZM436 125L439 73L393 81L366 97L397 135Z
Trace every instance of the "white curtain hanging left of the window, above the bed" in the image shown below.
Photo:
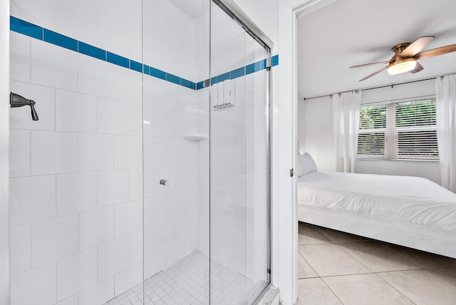
M355 172L361 90L333 95L336 171Z

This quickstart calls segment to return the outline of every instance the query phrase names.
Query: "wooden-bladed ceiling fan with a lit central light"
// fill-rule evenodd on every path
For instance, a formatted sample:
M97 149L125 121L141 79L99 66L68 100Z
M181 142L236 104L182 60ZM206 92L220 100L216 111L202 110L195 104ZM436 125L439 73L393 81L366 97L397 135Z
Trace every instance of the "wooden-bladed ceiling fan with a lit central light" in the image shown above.
M420 37L413 43L400 43L397 46L391 48L394 51L393 57L389 61L378 61L377 63L365 63L363 65L351 66L350 68L358 68L364 66L378 65L381 63L388 63L388 66L375 71L374 73L366 76L359 81L365 81L375 74L382 71L388 70L390 75L401 74L405 72L417 73L423 70L423 66L418 63L418 59L428 58L432 56L438 56L445 53L455 52L456 44L450 44L449 46L441 46L440 48L432 48L431 50L423 51L423 48L427 46L430 41L434 39L434 36Z

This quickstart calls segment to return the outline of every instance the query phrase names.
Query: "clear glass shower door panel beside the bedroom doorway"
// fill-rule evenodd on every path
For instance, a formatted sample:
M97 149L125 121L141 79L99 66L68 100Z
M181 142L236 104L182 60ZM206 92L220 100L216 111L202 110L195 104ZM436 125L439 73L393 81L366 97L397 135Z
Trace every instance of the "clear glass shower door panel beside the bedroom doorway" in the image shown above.
M269 52L212 3L210 288L214 304L251 304L269 284Z

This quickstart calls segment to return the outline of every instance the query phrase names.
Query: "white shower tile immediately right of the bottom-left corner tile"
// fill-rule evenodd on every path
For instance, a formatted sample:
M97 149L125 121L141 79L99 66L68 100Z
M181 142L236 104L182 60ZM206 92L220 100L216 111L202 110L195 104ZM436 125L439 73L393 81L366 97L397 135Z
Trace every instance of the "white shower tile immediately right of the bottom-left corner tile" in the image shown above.
M97 249L57 261L57 299L62 300L97 283Z

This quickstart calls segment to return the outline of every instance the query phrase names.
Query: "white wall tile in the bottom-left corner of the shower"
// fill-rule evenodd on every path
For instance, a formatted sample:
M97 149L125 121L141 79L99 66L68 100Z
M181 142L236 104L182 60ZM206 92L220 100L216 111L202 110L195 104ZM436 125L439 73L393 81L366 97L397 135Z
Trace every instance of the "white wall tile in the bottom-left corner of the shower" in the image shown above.
M54 304L56 262L11 276L11 305Z

